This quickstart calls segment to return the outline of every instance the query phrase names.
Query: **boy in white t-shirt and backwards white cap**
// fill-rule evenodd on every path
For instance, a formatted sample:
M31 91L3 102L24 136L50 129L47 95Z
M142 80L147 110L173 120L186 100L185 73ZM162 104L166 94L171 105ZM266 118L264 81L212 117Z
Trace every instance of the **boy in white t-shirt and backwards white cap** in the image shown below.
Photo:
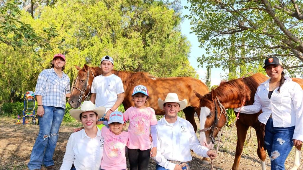
M124 89L121 78L112 74L114 68L112 57L102 57L100 67L102 74L93 80L90 100L96 107L104 106L106 108L104 118L108 119L109 114L117 111L123 102Z

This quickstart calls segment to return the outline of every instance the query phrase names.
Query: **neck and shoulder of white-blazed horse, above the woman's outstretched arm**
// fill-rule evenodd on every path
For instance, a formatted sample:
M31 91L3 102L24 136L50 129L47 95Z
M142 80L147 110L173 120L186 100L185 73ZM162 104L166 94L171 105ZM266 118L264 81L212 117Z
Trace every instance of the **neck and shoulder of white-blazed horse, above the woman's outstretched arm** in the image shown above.
M214 91L221 101L232 103L240 100L240 103L238 103L240 105L245 99L245 105L251 105L254 103L254 94L257 91L259 83L264 82L264 78L263 74L257 73L245 78L222 81Z

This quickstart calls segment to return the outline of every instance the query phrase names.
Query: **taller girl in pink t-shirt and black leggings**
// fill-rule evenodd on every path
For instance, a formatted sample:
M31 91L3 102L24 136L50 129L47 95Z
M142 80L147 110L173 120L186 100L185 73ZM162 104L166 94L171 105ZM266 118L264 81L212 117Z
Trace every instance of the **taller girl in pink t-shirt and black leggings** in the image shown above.
M130 170L147 170L150 156L154 157L157 154L157 132L155 125L158 122L155 110L144 105L148 99L148 90L145 86L136 86L132 97L135 106L128 108L124 113L125 121L129 120L127 152ZM149 139L150 132L153 139L152 148Z

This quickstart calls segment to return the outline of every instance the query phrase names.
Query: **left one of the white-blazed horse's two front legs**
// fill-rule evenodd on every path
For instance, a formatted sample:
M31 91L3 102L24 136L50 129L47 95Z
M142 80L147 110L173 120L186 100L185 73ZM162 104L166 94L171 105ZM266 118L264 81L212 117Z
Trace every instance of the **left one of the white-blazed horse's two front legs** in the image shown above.
M243 125L242 123L240 123L240 121L236 122L236 127L237 127L238 140L237 140L234 164L232 165L232 168L231 168L232 170L239 169L240 158L241 158L241 154L243 151L243 146L244 146L244 142L246 139L247 130L249 128L249 126Z

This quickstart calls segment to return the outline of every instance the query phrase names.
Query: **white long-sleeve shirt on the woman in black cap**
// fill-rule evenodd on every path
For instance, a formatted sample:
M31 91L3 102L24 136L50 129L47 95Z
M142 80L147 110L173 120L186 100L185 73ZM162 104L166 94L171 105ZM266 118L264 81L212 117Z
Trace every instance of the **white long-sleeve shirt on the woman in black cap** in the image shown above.
M258 119L266 124L272 115L274 127L296 126L293 139L303 141L303 90L300 85L291 78L285 77L285 82L278 92L275 89L268 99L269 80L261 83L255 94L255 102L249 106L243 106L241 113L253 114L262 112ZM236 112L240 108L234 109Z

